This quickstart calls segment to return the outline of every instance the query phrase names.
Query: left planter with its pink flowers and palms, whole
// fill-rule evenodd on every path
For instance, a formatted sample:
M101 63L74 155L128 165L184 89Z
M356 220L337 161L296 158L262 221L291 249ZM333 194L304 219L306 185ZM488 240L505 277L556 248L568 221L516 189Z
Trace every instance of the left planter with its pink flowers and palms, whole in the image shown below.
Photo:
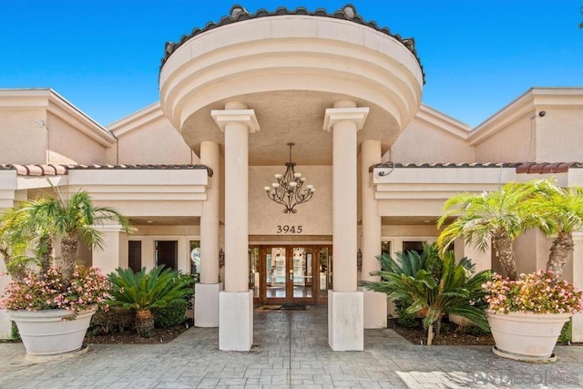
M32 360L64 357L81 349L95 305L107 297L107 279L95 268L77 265L78 242L101 249L96 226L105 220L129 228L126 218L95 206L86 192L66 197L54 190L55 196L23 201L0 216L1 253L13 275L2 305ZM56 241L61 266L53 256ZM27 257L26 252L34 256Z

